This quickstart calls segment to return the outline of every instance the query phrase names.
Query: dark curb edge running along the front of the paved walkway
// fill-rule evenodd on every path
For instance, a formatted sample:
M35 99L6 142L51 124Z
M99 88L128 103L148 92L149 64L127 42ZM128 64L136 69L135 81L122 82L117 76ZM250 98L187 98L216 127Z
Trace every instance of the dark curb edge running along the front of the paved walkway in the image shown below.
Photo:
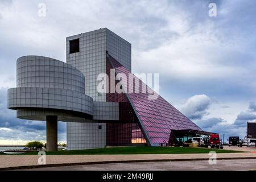
M219 158L218 160L238 160L238 159L256 159L256 157L237 157L237 158ZM16 170L16 169L35 169L47 167L63 167L63 166L82 166L90 164L114 164L114 163L144 163L144 162L176 162L176 161L195 161L195 160L209 160L209 158L195 158L195 159L143 159L143 160L110 160L99 162L82 162L82 163L62 163L62 164L44 164L36 166L15 166L0 168L0 171Z

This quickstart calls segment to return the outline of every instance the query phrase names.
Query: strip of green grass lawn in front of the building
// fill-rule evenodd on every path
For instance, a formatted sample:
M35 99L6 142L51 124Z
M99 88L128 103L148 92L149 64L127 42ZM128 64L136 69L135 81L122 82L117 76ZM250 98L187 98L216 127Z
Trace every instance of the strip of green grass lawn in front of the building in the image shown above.
M194 148L194 147L113 147L113 148L96 148L88 150L71 150L71 151L55 151L46 152L47 155L94 155L94 154L203 154L209 151L217 153L234 153L241 151L220 150L212 148ZM38 152L28 152L16 155L37 155ZM15 155L15 154L11 154Z

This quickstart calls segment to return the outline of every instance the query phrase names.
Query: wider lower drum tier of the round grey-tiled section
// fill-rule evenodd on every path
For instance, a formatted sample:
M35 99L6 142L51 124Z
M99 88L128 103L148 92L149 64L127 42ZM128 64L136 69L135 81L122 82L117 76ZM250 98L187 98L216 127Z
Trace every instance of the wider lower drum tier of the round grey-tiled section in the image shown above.
M93 99L72 90L18 87L8 90L8 108L18 110L17 117L20 119L45 121L49 111L55 111L54 113L59 113L57 115L60 121L72 122L72 113L92 118Z

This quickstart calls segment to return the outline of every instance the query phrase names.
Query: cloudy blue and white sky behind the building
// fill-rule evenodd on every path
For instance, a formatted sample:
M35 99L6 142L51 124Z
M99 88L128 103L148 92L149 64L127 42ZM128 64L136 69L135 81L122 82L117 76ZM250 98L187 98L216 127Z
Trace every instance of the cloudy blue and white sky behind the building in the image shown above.
M45 122L16 119L6 108L16 59L65 61L67 36L104 27L132 44L132 71L159 73L160 94L197 125L244 137L246 122L256 119L255 7L254 0L0 0L0 144L46 139ZM65 130L60 122L60 141Z

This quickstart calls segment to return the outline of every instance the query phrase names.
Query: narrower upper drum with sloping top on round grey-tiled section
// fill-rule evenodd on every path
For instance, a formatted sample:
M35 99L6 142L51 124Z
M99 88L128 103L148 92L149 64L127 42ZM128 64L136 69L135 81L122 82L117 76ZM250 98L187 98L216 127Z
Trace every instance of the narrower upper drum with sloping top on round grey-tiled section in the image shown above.
M85 78L78 69L63 61L43 56L23 56L17 60L16 85L85 93Z

